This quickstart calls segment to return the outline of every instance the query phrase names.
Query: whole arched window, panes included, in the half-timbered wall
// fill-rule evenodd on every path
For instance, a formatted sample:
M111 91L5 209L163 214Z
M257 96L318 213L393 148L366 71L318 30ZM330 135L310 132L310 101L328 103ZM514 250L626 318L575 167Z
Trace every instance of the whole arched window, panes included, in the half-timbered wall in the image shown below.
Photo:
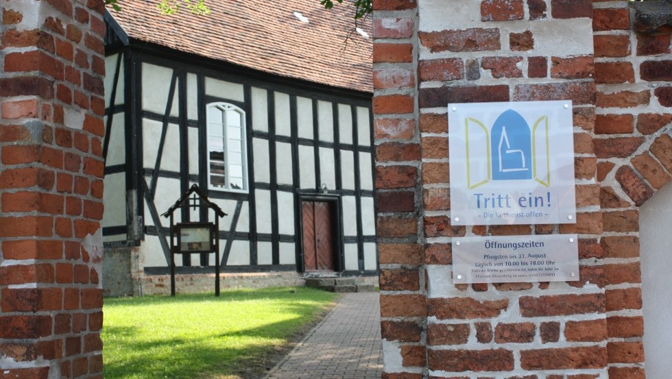
M208 188L247 192L245 112L228 103L210 103L207 123Z

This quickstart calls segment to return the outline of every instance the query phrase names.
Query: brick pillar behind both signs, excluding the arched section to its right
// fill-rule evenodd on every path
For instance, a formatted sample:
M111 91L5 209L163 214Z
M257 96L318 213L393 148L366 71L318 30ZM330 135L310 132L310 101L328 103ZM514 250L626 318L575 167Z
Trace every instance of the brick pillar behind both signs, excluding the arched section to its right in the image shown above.
M608 375L593 6L374 1L383 378ZM448 103L561 99L573 101L577 223L451 225ZM578 282L453 283L454 237L563 233L579 234Z

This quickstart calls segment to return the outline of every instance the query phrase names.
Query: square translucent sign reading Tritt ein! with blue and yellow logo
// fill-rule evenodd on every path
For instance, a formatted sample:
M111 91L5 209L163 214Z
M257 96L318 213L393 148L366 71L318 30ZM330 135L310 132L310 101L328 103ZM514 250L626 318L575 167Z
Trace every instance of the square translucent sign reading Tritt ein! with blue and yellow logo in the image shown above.
M571 101L448 104L453 225L575 223Z

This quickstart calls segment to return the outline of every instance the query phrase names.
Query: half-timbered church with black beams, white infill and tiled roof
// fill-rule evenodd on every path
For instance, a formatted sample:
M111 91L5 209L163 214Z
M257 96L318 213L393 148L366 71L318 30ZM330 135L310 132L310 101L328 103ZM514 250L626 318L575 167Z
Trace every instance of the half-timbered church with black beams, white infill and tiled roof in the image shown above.
M374 276L368 27L315 0L208 0L208 16L122 5L106 14L106 293L162 291L160 215L193 184L227 214L219 254L233 282ZM214 262L176 256L180 290L199 290Z

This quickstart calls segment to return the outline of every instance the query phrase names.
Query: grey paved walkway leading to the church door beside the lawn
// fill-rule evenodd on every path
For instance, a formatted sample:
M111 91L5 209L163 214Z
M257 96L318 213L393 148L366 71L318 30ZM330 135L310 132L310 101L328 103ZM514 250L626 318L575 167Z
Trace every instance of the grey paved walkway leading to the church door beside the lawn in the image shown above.
M265 379L380 379L379 293L346 293Z

